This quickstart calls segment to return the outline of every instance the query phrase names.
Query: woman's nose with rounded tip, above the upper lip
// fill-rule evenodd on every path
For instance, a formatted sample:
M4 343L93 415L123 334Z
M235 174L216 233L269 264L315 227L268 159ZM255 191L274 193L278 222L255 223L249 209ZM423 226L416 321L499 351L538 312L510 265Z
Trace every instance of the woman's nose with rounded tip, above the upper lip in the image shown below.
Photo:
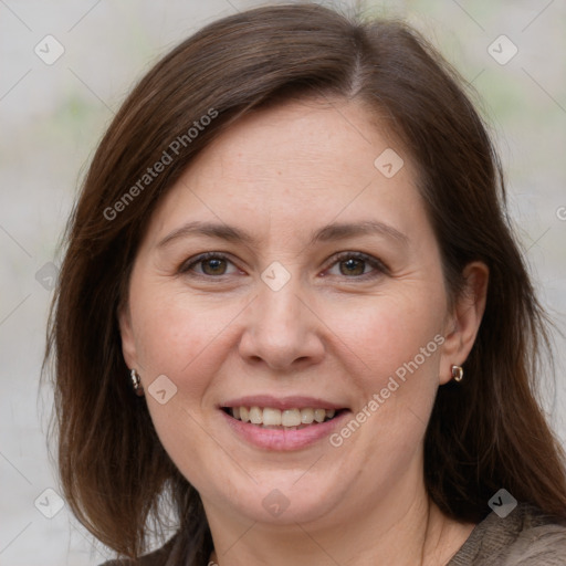
M244 324L239 352L249 364L294 371L324 357L324 325L310 307L306 294L291 282L279 291L261 284Z

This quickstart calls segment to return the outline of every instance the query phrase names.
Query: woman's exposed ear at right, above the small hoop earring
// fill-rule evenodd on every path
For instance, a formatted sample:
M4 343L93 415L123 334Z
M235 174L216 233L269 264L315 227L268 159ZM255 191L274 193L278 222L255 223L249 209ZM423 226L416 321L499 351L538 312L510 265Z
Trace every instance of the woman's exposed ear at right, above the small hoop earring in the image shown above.
M452 379L452 365L461 366L468 358L482 322L488 295L490 270L482 262L469 263L465 280L444 325L444 343L440 360L440 384Z

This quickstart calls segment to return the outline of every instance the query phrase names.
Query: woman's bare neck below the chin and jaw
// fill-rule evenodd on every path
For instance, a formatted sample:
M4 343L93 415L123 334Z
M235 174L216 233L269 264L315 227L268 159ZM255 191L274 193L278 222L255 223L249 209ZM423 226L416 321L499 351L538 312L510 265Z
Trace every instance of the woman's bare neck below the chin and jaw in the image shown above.
M219 566L313 563L328 566L438 566L447 564L474 525L444 516L422 490L395 490L380 505L365 505L336 521L284 525L237 522L205 505ZM410 492L409 492L410 493ZM409 503L407 503L409 501ZM226 510L224 510L226 511Z

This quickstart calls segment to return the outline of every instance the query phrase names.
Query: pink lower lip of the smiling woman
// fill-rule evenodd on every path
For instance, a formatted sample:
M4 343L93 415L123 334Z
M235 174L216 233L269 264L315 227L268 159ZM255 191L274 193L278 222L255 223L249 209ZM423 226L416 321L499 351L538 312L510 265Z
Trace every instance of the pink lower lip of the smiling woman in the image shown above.
M228 426L247 442L265 450L276 450L281 452L300 450L314 444L323 438L329 437L334 429L338 428L344 419L350 415L349 410L345 410L334 417L334 419L317 424L311 424L304 429L275 430L264 429L250 422L242 422L226 413L223 410L220 410L220 412L227 420Z

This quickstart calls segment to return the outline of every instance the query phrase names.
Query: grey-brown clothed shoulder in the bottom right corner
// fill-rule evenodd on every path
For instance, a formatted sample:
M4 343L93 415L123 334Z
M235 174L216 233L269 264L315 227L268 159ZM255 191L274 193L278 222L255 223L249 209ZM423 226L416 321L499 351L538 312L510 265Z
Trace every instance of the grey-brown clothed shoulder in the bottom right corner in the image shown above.
M566 523L530 504L506 517L491 513L449 566L566 566Z

